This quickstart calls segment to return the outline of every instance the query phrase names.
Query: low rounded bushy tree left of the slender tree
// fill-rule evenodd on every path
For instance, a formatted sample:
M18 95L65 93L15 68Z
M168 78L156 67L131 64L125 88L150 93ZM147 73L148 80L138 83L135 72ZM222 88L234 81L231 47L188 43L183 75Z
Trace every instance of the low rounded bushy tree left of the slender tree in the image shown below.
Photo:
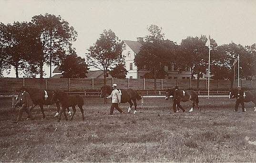
M89 69L85 59L73 53L65 56L59 70L62 72L63 78L86 78Z

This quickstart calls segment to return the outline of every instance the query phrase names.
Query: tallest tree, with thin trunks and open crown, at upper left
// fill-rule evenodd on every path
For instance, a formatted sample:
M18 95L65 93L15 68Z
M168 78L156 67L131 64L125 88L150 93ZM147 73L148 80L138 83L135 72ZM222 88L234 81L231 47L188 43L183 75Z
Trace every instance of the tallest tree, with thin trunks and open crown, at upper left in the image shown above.
M39 31L42 50L34 60L35 64L40 68L40 78L43 77L43 65L58 65L60 59L68 53L72 46L72 42L76 41L77 32L66 20L61 16L56 17L46 13L32 17L34 29Z

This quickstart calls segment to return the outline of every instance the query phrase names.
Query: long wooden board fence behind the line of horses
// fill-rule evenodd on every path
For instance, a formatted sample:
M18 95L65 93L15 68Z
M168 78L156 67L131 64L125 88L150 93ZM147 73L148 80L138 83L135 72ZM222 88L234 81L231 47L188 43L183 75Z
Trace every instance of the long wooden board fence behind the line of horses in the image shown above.
M154 79L107 79L107 85L116 83L118 88L134 90L154 90ZM237 86L238 81L234 82ZM0 92L17 92L21 86L34 87L55 90L59 89L67 92L83 92L86 90L99 90L103 86L103 79L98 78L61 78L61 79L43 79L39 78L0 78ZM165 88L173 88L179 86L184 90L207 90L207 80L200 80L199 87L197 88L197 80L177 80L177 79L157 79L156 89L158 91ZM240 85L247 89L256 89L256 80L240 80ZM229 80L211 80L211 91L227 91L230 88Z

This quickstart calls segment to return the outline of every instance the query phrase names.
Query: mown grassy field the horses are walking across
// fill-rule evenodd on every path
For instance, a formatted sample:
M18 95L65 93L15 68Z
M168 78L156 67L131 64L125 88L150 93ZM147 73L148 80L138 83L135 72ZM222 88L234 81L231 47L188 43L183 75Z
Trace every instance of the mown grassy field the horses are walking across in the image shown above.
M173 113L170 101L148 98L137 114L108 115L111 103L84 101L84 122L79 109L72 122L56 122L45 106L46 119L32 112L35 120L17 124L11 100L0 99L0 162L256 162L253 103L233 112L234 100L199 98L202 112Z

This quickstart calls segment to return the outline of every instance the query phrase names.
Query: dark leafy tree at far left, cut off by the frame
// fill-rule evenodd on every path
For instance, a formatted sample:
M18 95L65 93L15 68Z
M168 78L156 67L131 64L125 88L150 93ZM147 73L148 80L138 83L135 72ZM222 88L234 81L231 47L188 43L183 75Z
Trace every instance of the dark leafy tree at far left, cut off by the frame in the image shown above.
M19 71L24 69L26 60L29 60L31 50L35 49L33 41L35 35L31 31L31 23L14 22L7 25L1 23L0 31L1 58L5 57L5 63L14 66L18 78Z

